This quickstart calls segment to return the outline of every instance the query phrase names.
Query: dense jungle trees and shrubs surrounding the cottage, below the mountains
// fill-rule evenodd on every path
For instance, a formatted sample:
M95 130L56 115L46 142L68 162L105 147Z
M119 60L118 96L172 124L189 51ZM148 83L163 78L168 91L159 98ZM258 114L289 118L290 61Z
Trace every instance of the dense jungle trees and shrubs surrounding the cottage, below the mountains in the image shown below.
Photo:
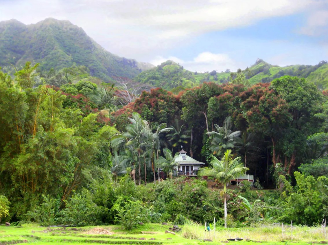
M2 221L132 229L215 217L223 226L225 198L228 227L327 218L327 97L304 78L137 97L126 83L51 72L31 63L14 78L0 71ZM210 168L232 152L257 190L246 182L226 195L220 178L176 177L181 148Z

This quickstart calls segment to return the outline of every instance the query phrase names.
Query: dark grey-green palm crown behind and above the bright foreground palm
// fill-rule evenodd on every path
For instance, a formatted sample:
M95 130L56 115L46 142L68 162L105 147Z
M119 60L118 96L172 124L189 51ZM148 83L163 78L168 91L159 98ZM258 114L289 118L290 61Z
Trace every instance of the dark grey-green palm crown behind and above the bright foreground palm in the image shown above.
M228 116L224 120L224 126L218 126L214 124L216 131L208 132L210 135L211 146L210 150L213 154L220 156L227 149L235 147L237 142L240 142L240 131L233 132L231 117Z

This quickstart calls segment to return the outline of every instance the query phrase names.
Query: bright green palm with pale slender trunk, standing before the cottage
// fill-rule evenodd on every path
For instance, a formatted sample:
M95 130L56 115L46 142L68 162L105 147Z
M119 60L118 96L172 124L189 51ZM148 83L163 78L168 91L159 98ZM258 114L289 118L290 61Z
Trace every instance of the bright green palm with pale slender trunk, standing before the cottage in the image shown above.
M239 175L245 174L248 168L243 166L241 157L234 158L232 150L226 150L222 159L217 159L212 155L212 167L204 167L198 171L200 176L212 176L223 183L224 194L224 227L227 228L227 185L231 179L236 179Z

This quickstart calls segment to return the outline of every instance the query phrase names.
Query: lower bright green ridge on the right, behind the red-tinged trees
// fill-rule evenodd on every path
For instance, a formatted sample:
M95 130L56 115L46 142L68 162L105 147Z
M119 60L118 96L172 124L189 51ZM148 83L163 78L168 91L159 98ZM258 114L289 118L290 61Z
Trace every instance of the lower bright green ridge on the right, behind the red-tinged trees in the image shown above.
M240 74L242 74L242 76L240 76ZM257 59L255 64L251 67L245 70L238 69L237 72L230 72L230 70L227 69L221 72L209 71L197 73L185 70L183 66L168 60L153 69L141 72L134 80L151 86L172 90L177 87L192 88L203 82L210 81L215 83L226 83L236 79L236 77L242 77L242 81L235 81L236 83L245 83L247 81L249 85L254 85L260 82L268 83L284 75L304 77L307 81L314 82L319 89L328 88L327 61L320 61L314 66L291 65L279 67L271 65L262 59Z

